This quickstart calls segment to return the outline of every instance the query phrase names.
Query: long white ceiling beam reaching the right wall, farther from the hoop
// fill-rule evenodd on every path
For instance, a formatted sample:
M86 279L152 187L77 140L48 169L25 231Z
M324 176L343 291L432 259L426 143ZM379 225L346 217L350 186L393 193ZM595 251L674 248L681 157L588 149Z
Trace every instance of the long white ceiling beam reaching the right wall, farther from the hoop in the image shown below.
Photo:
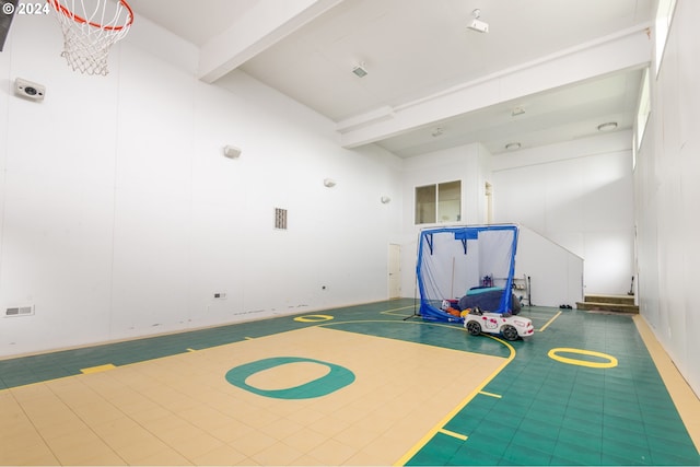
M651 57L649 27L641 25L418 101L352 117L336 130L342 147L357 148L495 104L641 68Z

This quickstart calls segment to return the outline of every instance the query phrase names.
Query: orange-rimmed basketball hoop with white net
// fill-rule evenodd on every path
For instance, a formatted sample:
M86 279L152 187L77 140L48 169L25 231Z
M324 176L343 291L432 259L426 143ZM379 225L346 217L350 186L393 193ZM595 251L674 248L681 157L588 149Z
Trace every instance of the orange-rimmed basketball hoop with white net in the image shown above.
M127 35L133 23L131 7L125 0L47 1L61 23L61 57L74 71L106 75L109 48Z

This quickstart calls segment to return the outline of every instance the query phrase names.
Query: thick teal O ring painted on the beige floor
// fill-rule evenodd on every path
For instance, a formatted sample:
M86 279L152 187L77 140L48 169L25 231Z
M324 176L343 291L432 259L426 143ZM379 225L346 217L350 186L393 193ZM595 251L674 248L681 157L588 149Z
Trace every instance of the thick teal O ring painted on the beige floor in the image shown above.
M327 371L324 376L292 387L266 389L248 384L248 378L250 378L250 376L292 363L312 363L323 365L326 366ZM226 381L236 387L259 396L272 397L276 399L313 399L326 396L348 386L354 382L354 373L345 366L323 362L320 360L305 359L301 357L273 357L270 359L244 363L243 365L229 370L226 373Z

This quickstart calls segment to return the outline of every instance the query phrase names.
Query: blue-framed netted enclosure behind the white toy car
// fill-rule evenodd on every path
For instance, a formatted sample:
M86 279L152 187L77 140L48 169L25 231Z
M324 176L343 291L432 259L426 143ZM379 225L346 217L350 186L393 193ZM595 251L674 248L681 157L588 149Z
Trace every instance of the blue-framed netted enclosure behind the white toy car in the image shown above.
M455 313L459 311L459 299L486 290L492 296L495 293L495 300L488 307L480 305L485 312L509 312L517 234L517 225L513 224L422 230L416 275L423 319L464 322Z

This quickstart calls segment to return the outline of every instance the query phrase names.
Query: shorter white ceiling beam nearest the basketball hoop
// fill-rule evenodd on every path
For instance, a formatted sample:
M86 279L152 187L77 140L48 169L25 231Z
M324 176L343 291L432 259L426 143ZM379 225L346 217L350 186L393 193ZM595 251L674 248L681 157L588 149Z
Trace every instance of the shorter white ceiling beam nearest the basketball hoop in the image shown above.
M342 0L259 0L245 15L205 44L199 79L212 83L292 34Z

